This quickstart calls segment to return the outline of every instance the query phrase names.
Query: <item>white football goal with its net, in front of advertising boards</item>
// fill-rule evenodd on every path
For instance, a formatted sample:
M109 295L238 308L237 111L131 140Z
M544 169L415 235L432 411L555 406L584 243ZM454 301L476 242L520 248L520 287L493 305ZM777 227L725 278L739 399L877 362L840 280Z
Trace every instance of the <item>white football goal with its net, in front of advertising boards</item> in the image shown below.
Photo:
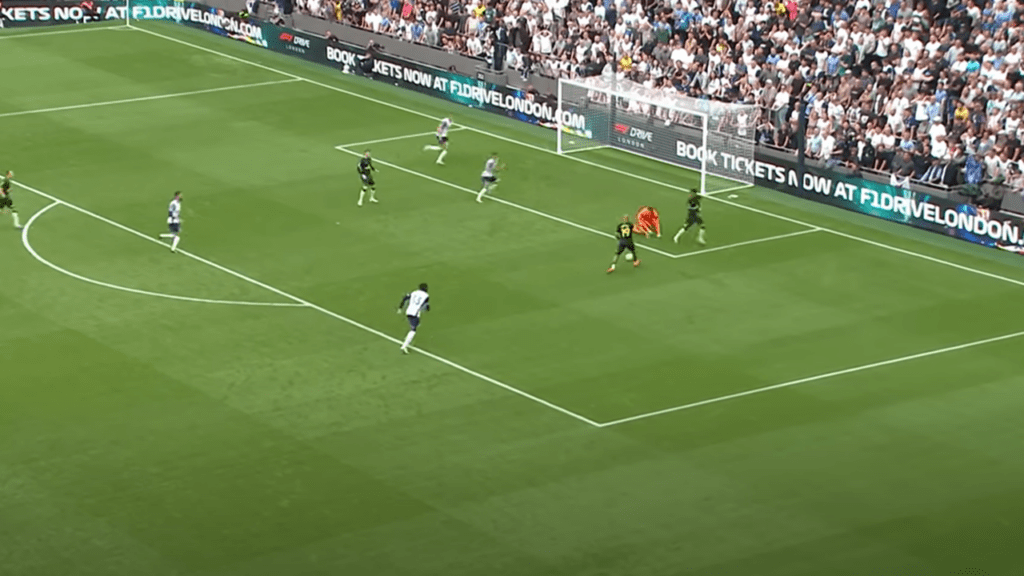
M594 76L559 80L558 106L559 154L613 148L645 156L697 172L705 194L754 184L754 105ZM562 124L562 112L586 127Z

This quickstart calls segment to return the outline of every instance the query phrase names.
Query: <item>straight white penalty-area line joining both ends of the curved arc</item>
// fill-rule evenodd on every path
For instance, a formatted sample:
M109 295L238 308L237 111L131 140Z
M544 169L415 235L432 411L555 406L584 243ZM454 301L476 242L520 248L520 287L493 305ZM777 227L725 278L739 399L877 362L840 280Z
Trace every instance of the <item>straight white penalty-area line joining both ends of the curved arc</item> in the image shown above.
M35 194L35 195L37 195L37 196L39 196L41 198L46 198L47 200L49 200L51 202L59 203L60 205L66 206L68 208L71 208L72 210L75 210L75 211L77 211L79 213L82 213L82 214L85 214L87 216L93 217L93 218L95 218L95 219L97 219L97 220L99 220L101 222L104 222L104 223L110 224L110 225L112 225L114 228L117 228L117 229L119 229L121 231L124 231L124 232L126 232L128 234L131 234L132 236L137 236L137 237L139 237L139 238L141 238L141 239L143 239L145 241L148 241L148 242L152 242L152 243L155 243L155 244L159 244L160 246L166 248L166 245L163 242L160 242L159 240L151 238L151 237L142 234L141 232L138 232L137 230L134 230L132 228L128 228L125 224L122 224L121 222L118 222L116 220L112 220L112 219L110 219L110 218L108 218L105 216L101 216L101 215L99 215L99 214L97 214L95 212L91 212L89 210L86 210L85 208L82 208L80 206L76 206L75 204L71 204L70 202L66 202L63 200L60 200L59 198L57 198L55 196L49 195L49 194L47 194L47 193L45 193L45 192L43 192L41 190L37 190L37 189L32 188L30 186L27 186L25 183L14 182L14 184L17 186L17 187L19 187L19 188L22 188L22 189L24 189L24 190L27 190L27 191L29 191L29 192L31 192L31 193L33 193L33 194ZM223 266L221 264L218 264L217 262L214 262L212 260L208 260L208 259L206 259L206 258L204 258L202 256L193 254L190 252L186 252L184 250L178 250L177 253L180 254L180 255L182 255L182 256L191 258L191 259L194 259L194 260L196 260L198 262L204 263L204 264L206 264L206 265L208 265L210 268L213 268L215 270L219 270L220 272L223 272L224 274L227 274L229 276L233 276L234 278L238 278L239 280L242 280L244 282L252 284L253 286L258 286L260 288L263 288L264 290L267 290L269 292L273 292L274 294L278 294L279 296L282 296L283 298L286 298L288 300L291 300L293 302L301 304L304 307L307 307L307 308L310 308L310 310L314 310L314 311L316 311L316 312L318 312L318 313L321 313L321 314L323 314L325 316L329 316L329 317L331 317L331 318L333 318L335 320L339 320L341 322L344 322L345 324L348 324L349 326L352 326L354 328L358 328L359 330L362 330L364 332L368 332L370 334L373 334L375 336L378 336L380 338L383 338L383 339L385 339L385 340L387 340L389 342L395 343L395 344L400 344L401 343L401 340L399 340L398 338L395 338L393 336L385 334L384 332L381 332L380 330L377 330L375 328L371 328L370 326L367 326L366 324L362 324L362 323L360 323L358 321L352 320L351 318L348 318L346 316L342 316L342 315L340 315L340 314L338 314L336 312L332 312L332 311L330 311L330 310L328 310L328 308L326 308L324 306L314 304L314 303L312 303L312 302L310 302L308 300L300 298L300 297L298 297L298 296L296 296L294 294L291 294L289 292L286 292L286 291L284 291L284 290L282 290L280 288L275 288L275 287L273 287L273 286L271 286L269 284L266 284L264 282L260 282L259 280L256 280L255 278L246 276L246 275L244 275L244 274L242 274L240 272L237 272L237 271L233 271L233 270L231 270L229 268L226 268L226 266ZM550 409L552 409L552 410L554 410L556 412L559 412L559 413L561 413L561 414L563 414L565 416L568 416L570 418L573 418L575 420L584 422L584 423L586 423L586 424L588 424L590 426L598 427L598 425L599 425L595 420L591 420L590 418L588 418L586 416L577 414L575 412L572 412L571 410L568 410L566 408L562 408L561 406L558 406L557 404L548 402L547 400L544 400L543 398L534 396L534 395L531 395L531 394L529 394L527 392L523 392L523 390L521 390L521 389L519 389L517 387L514 387L514 386L511 386L509 384L506 384L505 382L502 382L500 380L492 378L490 376L487 376L485 374L481 374L481 373L479 373L479 372L477 372L477 371L475 371L475 370L473 370L471 368L467 368L467 367L465 367L465 366L463 366L461 364L458 364L456 362L453 362L453 361L451 361L451 360L449 360L446 358L437 356L436 354L427 352L427 351L425 351L423 348L419 348L419 347L416 347L416 346L410 346L410 347L411 347L411 349L414 349L414 351L418 352L419 354L422 354L423 356L425 356L425 357L427 357L427 358L429 358L429 359L431 359L431 360L433 360L435 362L439 362L439 363L447 366L449 368L453 368L453 369L458 370L458 371L460 371L460 372L462 372L464 374L467 374L469 376L473 376L474 378L477 378L479 380L483 380L484 382L487 382L488 384L493 384L493 385L498 386L498 387L500 387L500 388L502 388L502 389L504 389L506 392L514 394L514 395L516 395L518 397L521 397L521 398L526 399L526 400L532 401L532 402L535 402L537 404L540 404L540 405L542 405L542 406L544 406L546 408L550 408Z

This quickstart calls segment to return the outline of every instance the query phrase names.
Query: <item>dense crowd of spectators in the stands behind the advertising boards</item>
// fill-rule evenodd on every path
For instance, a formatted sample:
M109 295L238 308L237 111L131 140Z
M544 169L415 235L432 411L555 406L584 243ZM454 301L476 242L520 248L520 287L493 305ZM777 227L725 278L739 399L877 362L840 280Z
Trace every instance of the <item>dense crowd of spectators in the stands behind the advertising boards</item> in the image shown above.
M530 75L615 74L756 104L757 138L981 204L1024 191L1016 0L298 0ZM804 138L797 136L801 106Z

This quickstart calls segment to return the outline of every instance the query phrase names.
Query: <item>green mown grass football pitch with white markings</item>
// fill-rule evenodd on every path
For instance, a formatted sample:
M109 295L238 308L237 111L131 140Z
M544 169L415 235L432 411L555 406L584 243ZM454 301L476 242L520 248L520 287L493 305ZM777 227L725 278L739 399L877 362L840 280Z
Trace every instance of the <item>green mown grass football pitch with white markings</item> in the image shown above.
M692 172L173 25L0 53L0 574L1024 574L1020 256L755 188L675 244Z

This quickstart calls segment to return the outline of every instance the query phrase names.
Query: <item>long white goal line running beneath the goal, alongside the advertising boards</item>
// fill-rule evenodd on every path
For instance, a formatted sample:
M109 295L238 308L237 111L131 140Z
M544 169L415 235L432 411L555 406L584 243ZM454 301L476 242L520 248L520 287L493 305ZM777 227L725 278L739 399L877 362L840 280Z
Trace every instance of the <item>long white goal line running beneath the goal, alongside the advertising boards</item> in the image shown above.
M129 25L129 26L131 26L131 25ZM152 30L146 30L144 28L137 28L137 27L134 27L134 26L132 26L132 28L134 30L138 30L139 32L143 32L145 34L150 34L150 35L156 36L158 38L163 38L165 40L168 40L170 42L175 42L177 44L181 44L181 45L184 45L184 46L189 46L191 48L195 48L197 50L202 50L202 51L207 52L207 53L217 54L217 55L219 55L221 57L225 57L227 59L234 60L234 61L238 61L240 64L245 64L245 65L248 65L248 66L252 66L252 67L258 68L260 70L266 70L268 72L274 72L276 74L280 74L282 76L287 76L289 78L294 78L294 79L302 80L302 81L306 82L307 84L311 84L311 85L314 85L314 86L319 86L319 87L326 88L328 90L333 90L333 91L338 92L338 93L347 94L349 96L352 96L352 97L355 97L355 98L359 98L359 99L362 99L362 100L366 100L366 101L371 101L371 102L374 102L374 104L377 104L377 105L380 105L380 106L385 106L385 107L391 108L393 110L398 110L398 111L401 111L401 112L404 112L404 113L408 113L408 114L412 114L414 116L419 116L421 118L430 118L431 120L436 120L436 118L434 118L432 115L424 113L424 112L420 112L418 110L413 110L411 108L406 108L403 106L399 106L399 105L396 105L396 104L393 104L393 102L389 102L389 101L386 101L386 100L378 99L378 98L375 98L373 96L368 96L366 94L360 94L358 92L353 92L351 90L346 90L346 89L340 88L338 86L333 86L333 85L327 84L325 82L319 82L319 81L316 81L316 80L312 80L312 79L309 79L309 78L298 76L298 75L293 74L291 72L285 72L283 70L280 70L280 69L276 69L276 68L273 68L273 67L269 67L269 66L266 66L266 65L263 65L263 64L259 64L257 61L253 61L253 60L246 59L246 58L243 58L243 57L240 57L240 56L228 54L226 52L215 50L213 48L208 48L206 46L201 46L199 44L196 44L196 43L193 43L193 42L188 42L186 40L181 40L179 38L174 38L172 36L167 36L166 34L160 34L159 32L154 32ZM678 187L676 184L664 182L664 181L656 180L656 179L653 179L653 178L648 178L646 176L641 176L639 174L627 172L626 170L620 170L617 168L613 168L611 166L606 166L604 164L599 164L597 162L590 162L590 161L584 160L582 158L577 158L577 157L574 157L572 155L558 154L556 151L553 151L553 150L550 150L550 149L547 149L547 148L543 148L543 147L539 147L539 146L536 146L536 145L531 145L531 143L528 143L528 142L524 142L524 141L521 141L521 140L517 140L515 138L510 138L508 136L503 136L501 134L495 134L493 132L488 132L487 130L481 130L479 128L474 128L472 126L467 126L465 124L463 124L462 126L464 126L467 130L470 130L470 131L473 131L473 132L477 132L479 134L483 134L483 135L486 135L486 136L490 136L490 137L499 139L499 140L503 140L503 141L507 141L507 142L510 142L510 143L522 146L522 147L525 147L525 148L528 148L528 149L531 149L531 150L536 150L538 152L542 152L544 154L553 154L553 155L559 156L561 158L566 158L566 159L571 160L573 162L580 162L582 164L585 164L585 165L588 165L588 166L591 166L591 167L594 167L594 168L598 168L598 169L601 169L601 170L607 170L609 172L613 172L613 173L621 174L621 175L624 175L624 176L629 176L630 178L638 179L638 180L645 181L645 182L648 182L648 183L652 183L652 184L655 184L655 186L665 187L665 188L668 188L668 189L671 189L671 190L678 190L678 191L681 191L681 192L689 192L688 189L684 189L684 188ZM847 233L844 233L844 232L839 232L837 230L833 230L833 229L828 229L828 228L824 228L824 227L819 227L817 224L812 224L812 223L809 223L809 222L805 222L803 220L800 220L800 219L797 219L797 218L792 218L790 216L785 216L785 215L782 215L782 214L777 214L775 212L770 212L768 210L762 210L760 208L755 208L753 206L746 206L746 205L740 204L738 202L731 202L729 200L725 200L725 199L719 198L717 196L710 196L709 199L711 199L711 200L713 200L715 202L720 202L722 204L725 204L726 206L732 206L732 207L740 209L740 210L745 210L745 211L749 211L749 212L754 212L756 214L761 214L761 215L768 216L768 217L771 217L771 218L775 218L775 219L779 219L779 220L782 220L782 221L795 223L795 224L798 224L798 225L801 225L801 227L804 227L804 228L807 228L807 229L816 229L818 231L826 232L828 234L833 234L833 235L836 235L836 236L839 236L839 237L842 237L842 238L846 238L846 239L849 239L849 240L853 240L853 241L856 241L856 242L861 242L861 243L868 244L868 245L871 245L871 246L876 246L876 247L879 247L879 248L883 248L883 249L886 249L886 250L892 250L894 252L899 252L899 253L905 254L907 256L912 256L912 257L915 257L915 258L922 258L922 259L925 259L925 260L937 263L937 264L942 264L942 265L954 268L954 269L957 269L957 270L961 270L961 271L964 271L964 272L969 272L969 273L972 273L972 274L977 274L977 275L980 275L980 276L985 276L985 277L988 277L988 278L991 278L991 279L994 279L994 280L1000 280L1002 282L1009 282L1011 284L1016 284L1016 285L1019 285L1019 286L1024 286L1024 281L1021 281L1021 280L1015 280L1015 279L1008 278L1008 277L1005 277L1005 276L999 276L997 274L992 274L992 273L988 273L988 272L985 272L985 271L982 271L982 270L973 269L973 268L970 268L970 266L957 264L957 263L951 262L949 260L943 260L942 258L936 258L934 256L929 256L927 254L922 254L920 252L914 252L912 250L906 250L906 249L903 249L903 248L897 248L895 246L890 246L890 245L882 243L882 242L876 242L873 240L868 240L866 238L862 238L862 237L855 236L855 235L852 235L852 234L847 234Z

